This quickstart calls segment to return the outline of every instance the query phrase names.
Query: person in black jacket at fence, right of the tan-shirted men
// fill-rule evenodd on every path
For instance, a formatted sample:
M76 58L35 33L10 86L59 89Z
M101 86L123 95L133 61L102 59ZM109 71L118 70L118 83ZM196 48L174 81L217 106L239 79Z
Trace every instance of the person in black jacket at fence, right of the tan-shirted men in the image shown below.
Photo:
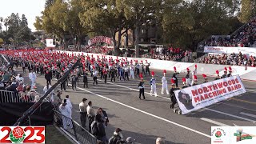
M102 115L101 114L97 114L95 117L95 122L97 122L97 127L98 127L98 133L95 135L95 137L98 140L101 140L102 142L108 142L108 138L106 138L106 132L105 132L105 127L103 125L102 121Z

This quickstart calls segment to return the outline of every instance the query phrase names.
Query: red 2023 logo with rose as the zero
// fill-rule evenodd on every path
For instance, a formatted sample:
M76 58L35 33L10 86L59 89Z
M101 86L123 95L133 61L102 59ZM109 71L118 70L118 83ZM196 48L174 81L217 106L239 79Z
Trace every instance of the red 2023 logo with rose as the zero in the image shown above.
M0 126L0 143L45 143L45 127Z

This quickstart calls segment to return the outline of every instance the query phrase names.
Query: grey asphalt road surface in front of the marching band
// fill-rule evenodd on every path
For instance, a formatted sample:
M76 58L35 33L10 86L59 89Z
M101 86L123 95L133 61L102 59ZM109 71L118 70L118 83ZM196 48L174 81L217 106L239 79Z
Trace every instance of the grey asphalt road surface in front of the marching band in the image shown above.
M19 69L18 69L19 70ZM70 95L73 103L72 117L80 123L78 104L82 98L93 102L95 111L98 107L106 110L110 119L110 125L106 127L107 138L113 135L114 129L119 127L125 138L133 137L136 142L142 144L154 144L155 139L162 137L166 143L210 143L211 126L256 126L256 88L255 82L243 81L246 87L246 94L218 102L202 110L194 111L186 115L174 114L170 110L169 95L162 95L162 70L154 70L158 82L158 97L150 96L150 77L144 77L146 84L146 100L138 98L139 78L130 81L110 82L104 84L98 78L98 86L93 86L92 78L89 78L89 88L83 88L82 78L77 91L67 88L66 94ZM167 71L166 76L172 76ZM23 74L24 78L28 74ZM186 74L178 74L178 86L182 86L182 78ZM209 78L209 81L214 78ZM28 82L28 81L26 81ZM54 83L56 81L52 81ZM202 83L203 78L198 76L198 82ZM42 94L42 87L46 85L43 76L38 76L38 92ZM53 85L53 84L52 84ZM88 124L86 124L88 126Z

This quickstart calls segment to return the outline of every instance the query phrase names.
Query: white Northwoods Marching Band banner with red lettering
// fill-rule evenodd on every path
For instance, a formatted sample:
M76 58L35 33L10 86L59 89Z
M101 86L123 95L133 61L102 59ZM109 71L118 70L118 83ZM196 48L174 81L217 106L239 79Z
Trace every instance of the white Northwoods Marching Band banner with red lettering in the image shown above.
M182 114L246 93L239 75L174 91Z

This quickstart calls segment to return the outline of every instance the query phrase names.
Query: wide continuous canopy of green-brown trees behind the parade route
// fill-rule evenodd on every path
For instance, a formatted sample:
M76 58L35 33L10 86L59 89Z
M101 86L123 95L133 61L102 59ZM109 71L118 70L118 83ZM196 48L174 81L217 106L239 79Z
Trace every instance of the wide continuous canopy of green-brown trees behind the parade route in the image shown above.
M247 22L252 15L250 11L253 8L246 8L253 7L251 1L242 0L240 16L244 19L243 22ZM115 54L118 54L124 30L132 29L138 56L139 31L151 25L158 27L156 37L161 38L163 43L188 49L194 49L198 42L212 34L230 34L241 26L236 15L239 14L239 2L240 0L46 0L42 17L36 18L34 26L37 30L46 30L63 40L64 34L70 34L78 42L86 35L109 36L114 39Z

